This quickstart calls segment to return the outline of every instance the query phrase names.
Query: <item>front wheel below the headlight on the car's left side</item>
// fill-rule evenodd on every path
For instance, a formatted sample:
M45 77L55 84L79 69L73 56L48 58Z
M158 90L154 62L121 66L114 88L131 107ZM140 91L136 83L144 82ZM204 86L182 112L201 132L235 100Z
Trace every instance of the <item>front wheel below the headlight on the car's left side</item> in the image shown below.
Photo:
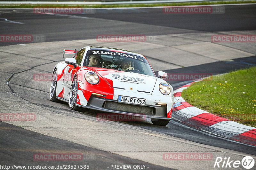
M70 91L69 91L69 96L68 96L68 106L70 109L72 110L76 110L76 111L84 111L83 108L76 106L76 99L77 99L77 85L78 85L78 81L77 81L77 77L75 77L72 81L71 87L70 87Z

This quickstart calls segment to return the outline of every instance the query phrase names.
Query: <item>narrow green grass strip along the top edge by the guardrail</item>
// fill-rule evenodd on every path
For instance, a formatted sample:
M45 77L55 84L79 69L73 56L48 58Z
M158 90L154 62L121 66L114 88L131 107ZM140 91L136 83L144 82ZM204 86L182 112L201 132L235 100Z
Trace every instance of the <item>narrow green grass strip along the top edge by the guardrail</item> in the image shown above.
M114 7L150 7L150 6L181 6L181 5L211 5L211 4L246 4L256 3L256 1L218 1L218 2L195 2L195 3L169 3L169 4L116 4L116 5L52 5L52 4L6 4L0 8L35 8L35 7L74 7L74 8L114 8Z

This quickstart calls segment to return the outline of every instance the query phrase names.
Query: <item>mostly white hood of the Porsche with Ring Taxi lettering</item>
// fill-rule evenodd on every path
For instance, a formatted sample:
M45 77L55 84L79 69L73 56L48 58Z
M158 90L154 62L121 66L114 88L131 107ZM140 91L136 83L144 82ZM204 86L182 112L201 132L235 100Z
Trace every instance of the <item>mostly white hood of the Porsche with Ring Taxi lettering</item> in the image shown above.
M118 70L95 69L109 86L129 92L152 94L156 77Z

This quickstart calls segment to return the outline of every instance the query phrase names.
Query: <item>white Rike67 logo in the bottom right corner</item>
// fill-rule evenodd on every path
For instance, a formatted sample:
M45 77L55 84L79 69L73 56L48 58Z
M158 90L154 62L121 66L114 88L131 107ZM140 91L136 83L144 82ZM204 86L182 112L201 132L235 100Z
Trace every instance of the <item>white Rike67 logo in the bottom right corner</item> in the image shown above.
M221 157L217 157L214 163L214 168L218 167L218 168L238 168L241 165L245 168L245 169L251 169L252 167L254 167L254 159L251 156L245 156L242 161L240 160L231 160L230 157L228 158L224 158L222 159Z

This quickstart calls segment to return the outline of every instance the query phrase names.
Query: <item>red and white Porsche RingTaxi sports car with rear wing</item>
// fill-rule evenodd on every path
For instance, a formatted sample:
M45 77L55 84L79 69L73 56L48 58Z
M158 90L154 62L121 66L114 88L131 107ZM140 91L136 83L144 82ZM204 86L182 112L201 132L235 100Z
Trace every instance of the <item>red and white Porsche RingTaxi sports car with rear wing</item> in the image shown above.
M150 117L155 125L165 126L172 117L173 88L156 77L148 60L139 53L121 49L86 46L73 58L55 65L50 100L61 100L70 109Z

